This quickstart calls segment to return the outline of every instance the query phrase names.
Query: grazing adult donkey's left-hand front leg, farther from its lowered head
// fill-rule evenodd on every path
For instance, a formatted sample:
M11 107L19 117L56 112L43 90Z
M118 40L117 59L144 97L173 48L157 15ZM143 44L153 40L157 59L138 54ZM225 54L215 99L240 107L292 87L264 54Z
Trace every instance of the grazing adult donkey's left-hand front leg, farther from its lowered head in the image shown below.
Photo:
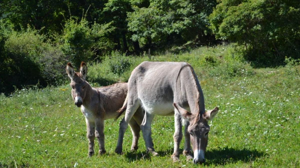
M178 112L174 114L174 125L175 125L175 132L173 135L174 138L174 152L172 155L173 161L179 161L179 145L182 140L182 125L181 125L181 116Z

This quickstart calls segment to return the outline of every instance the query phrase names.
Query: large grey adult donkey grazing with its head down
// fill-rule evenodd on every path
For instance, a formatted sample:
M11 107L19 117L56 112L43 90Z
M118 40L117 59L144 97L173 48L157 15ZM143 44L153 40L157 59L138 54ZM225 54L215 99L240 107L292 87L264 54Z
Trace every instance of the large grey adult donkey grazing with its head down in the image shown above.
M117 116L126 110L119 137L124 135L140 104L146 111L141 129L148 152L158 155L153 148L151 137L154 115L174 115L173 161L179 161L182 122L185 136L183 154L187 159L193 158L195 164L205 161L204 153L210 129L208 120L217 114L218 108L205 112L202 89L191 65L185 62L142 62L138 65L131 73L127 98ZM190 152L190 142L194 157Z

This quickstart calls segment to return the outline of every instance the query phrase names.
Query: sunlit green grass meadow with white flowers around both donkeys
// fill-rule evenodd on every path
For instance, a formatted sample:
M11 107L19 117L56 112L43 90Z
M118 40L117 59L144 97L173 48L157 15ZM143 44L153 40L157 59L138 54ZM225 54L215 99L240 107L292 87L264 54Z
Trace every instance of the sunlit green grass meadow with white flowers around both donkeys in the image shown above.
M217 65L207 64L206 55L214 56ZM252 69L223 46L152 59L189 62L201 83L206 109L220 108L209 123L206 163L201 167L300 167L300 66ZM109 72L105 62L88 65L88 81L126 81L143 60L147 57L132 59L121 76ZM62 85L0 97L0 167L199 167L182 155L181 163L173 163L174 119L161 116L152 124L158 157L146 154L143 138L137 152L130 152L129 129L124 154L115 154L120 120L106 120L107 153L89 158L85 120L70 92ZM98 143L95 148L98 151Z

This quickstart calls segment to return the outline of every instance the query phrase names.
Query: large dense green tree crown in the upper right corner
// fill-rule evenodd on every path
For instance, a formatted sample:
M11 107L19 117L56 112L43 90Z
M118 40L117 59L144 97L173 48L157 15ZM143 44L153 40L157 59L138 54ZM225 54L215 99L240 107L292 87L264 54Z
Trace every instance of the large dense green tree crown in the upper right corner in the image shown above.
M269 65L299 57L300 5L297 0L224 0L209 16L218 39L237 42L245 58Z

